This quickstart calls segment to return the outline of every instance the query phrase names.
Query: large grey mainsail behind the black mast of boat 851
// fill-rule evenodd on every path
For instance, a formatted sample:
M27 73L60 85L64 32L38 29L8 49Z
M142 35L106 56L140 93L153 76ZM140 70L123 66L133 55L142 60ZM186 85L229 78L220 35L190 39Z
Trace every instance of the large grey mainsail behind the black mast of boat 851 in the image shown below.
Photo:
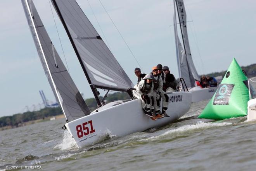
M125 91L133 83L75 0L52 0L78 51L81 65L97 88ZM61 18L61 17L60 17ZM67 30L66 30L67 31Z

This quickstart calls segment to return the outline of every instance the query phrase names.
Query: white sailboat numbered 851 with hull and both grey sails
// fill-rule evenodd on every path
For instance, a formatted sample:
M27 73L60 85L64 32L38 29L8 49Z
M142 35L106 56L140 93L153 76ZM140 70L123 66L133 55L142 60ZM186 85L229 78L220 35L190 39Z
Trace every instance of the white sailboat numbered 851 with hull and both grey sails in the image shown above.
M106 135L125 136L169 124L191 105L189 92L168 94L170 117L153 121L144 114L140 99L103 105L97 88L130 92L133 84L75 0L52 0L92 89L98 108L90 111L74 84L36 11L32 0L21 0L33 40L50 86L78 148L99 142ZM131 93L129 93L131 95Z

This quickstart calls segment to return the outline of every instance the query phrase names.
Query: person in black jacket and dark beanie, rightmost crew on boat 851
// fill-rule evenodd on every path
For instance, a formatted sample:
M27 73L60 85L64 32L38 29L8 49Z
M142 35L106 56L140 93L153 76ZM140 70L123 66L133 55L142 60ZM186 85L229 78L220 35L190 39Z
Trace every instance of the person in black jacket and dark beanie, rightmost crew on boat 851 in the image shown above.
M177 83L175 76L170 73L169 67L164 66L163 67L163 72L166 75L165 78L165 84L163 86L163 90L168 93L168 92L175 92L177 90Z

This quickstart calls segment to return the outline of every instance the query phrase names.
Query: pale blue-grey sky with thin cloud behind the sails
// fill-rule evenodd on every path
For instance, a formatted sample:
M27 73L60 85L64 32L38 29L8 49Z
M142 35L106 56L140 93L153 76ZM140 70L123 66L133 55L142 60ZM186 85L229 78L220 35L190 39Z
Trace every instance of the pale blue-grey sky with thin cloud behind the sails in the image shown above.
M134 68L139 66L136 60L144 73L161 63L178 77L173 0L100 0L136 60L99 0L77 2L133 83L137 81ZM57 52L64 63L67 60L78 90L84 98L93 97L66 32L53 11L63 55L49 1L34 0L34 3ZM240 66L256 63L256 1L184 0L184 4L190 49L199 74L224 71L233 57ZM20 0L1 1L0 40L0 117L25 112L26 106L33 110L33 105L42 104L39 90L54 102Z

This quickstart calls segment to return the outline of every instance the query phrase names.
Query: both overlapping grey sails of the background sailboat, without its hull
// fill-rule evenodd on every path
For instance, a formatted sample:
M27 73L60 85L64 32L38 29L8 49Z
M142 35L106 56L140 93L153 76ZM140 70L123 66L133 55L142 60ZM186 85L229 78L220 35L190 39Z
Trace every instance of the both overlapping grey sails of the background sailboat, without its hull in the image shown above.
M177 58L179 55L179 62L180 66L180 77L185 79L185 82L188 87L194 87L195 79L200 80L197 71L195 69L190 47L189 47L189 37L187 34L187 15L184 7L183 0L175 0L177 11L178 11L178 17L180 21L180 29L182 33L182 40L183 40L183 46L185 51L182 48L182 45L180 43L180 40L178 38L177 34L177 27L176 27L176 10L174 5L174 32L175 32L175 43L176 43L176 53ZM175 4L175 3L174 3Z

